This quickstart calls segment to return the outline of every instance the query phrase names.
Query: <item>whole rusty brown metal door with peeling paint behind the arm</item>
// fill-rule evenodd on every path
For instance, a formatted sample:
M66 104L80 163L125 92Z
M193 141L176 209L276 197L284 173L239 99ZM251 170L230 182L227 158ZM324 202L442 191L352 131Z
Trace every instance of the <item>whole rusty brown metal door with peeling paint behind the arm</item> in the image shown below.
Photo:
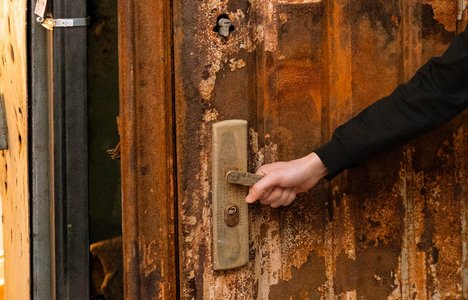
M249 122L251 171L309 153L442 53L455 20L447 1L175 1L183 299L468 298L463 116L290 207L250 206L248 265L211 265L211 125Z

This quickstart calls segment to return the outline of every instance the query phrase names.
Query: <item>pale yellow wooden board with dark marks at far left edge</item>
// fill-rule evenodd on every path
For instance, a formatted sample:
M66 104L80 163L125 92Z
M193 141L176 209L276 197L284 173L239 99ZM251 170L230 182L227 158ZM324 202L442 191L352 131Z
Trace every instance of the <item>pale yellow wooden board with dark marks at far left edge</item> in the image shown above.
M29 299L26 1L0 3L0 35L0 97L5 101L9 145L0 151L5 299Z

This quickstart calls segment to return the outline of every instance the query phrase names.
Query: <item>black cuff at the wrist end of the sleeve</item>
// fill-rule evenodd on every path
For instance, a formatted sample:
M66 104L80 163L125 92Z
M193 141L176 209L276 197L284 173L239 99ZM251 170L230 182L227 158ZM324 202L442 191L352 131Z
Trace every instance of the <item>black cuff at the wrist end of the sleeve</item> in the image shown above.
M341 171L354 166L348 152L338 139L332 139L322 145L315 150L315 153L328 170L328 175L325 176L328 180L333 179Z

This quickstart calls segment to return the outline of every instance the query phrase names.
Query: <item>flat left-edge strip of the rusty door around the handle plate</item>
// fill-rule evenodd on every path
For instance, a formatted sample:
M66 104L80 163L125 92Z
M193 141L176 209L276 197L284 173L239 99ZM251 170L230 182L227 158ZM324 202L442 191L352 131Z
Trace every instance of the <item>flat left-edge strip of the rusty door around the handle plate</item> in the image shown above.
M231 6L232 5L232 6ZM239 8L239 10L237 10ZM234 9L233 11L231 9ZM228 13L229 39L213 31ZM211 248L211 124L227 119L256 122L251 15L246 1L174 2L175 87L182 299L249 299L255 271L217 271Z

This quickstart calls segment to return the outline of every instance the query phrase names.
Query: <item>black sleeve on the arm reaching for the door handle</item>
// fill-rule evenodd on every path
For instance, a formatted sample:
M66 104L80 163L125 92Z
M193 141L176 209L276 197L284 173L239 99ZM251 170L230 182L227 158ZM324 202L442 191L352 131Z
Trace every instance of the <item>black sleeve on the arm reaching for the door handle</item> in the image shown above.
M374 152L448 122L468 103L468 30L441 57L430 59L406 84L338 127L315 152L328 179Z

